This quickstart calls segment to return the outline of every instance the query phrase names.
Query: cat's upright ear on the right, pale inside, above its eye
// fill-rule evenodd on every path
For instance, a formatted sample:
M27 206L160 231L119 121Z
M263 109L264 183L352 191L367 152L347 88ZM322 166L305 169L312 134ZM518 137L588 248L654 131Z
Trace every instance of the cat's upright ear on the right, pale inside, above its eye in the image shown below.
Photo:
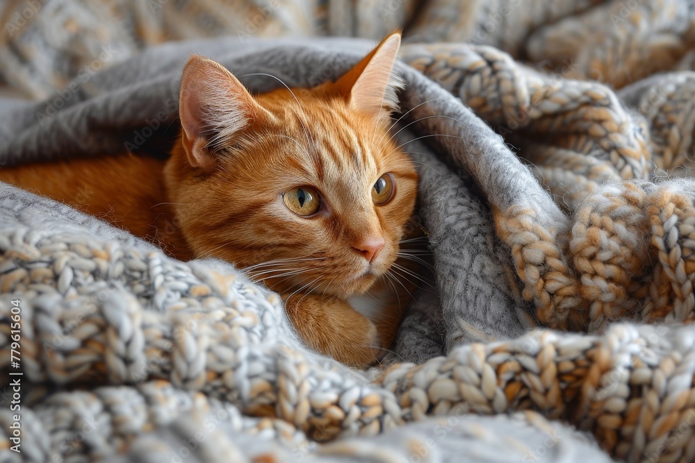
M347 95L352 108L377 119L388 119L398 110L397 92L403 87L402 79L393 71L398 49L400 32L395 32L338 79L335 85Z

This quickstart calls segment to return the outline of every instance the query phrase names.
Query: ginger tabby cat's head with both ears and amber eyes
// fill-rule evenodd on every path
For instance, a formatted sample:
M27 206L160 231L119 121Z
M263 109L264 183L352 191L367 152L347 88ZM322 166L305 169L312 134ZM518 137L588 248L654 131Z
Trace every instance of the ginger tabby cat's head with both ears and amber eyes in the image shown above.
M399 47L390 35L335 83L257 96L190 58L166 178L197 257L234 262L277 292L341 297L389 270L417 189L389 132Z

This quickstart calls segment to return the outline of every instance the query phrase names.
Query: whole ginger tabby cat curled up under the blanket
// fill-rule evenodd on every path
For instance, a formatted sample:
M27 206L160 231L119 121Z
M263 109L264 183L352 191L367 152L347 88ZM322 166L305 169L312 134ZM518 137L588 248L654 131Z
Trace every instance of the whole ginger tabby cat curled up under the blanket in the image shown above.
M192 56L168 160L47 162L0 169L0 180L76 205L180 260L233 262L281 294L311 348L366 367L393 343L407 301L396 278L409 271L393 264L419 260L399 255L418 181L389 133L399 47L394 33L335 83L256 96Z

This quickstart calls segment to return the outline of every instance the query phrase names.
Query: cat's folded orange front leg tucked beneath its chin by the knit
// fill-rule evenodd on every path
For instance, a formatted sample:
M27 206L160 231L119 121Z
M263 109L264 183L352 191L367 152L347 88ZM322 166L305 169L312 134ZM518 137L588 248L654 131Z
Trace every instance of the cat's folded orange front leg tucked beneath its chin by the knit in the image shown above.
M384 357L376 326L342 299L320 294L283 294L285 310L307 346L351 367Z

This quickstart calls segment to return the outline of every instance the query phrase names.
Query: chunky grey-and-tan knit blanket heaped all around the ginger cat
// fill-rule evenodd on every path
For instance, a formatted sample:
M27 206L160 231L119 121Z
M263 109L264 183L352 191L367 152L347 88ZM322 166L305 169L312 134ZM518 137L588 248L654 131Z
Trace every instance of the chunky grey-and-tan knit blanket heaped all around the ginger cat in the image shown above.
M311 86L374 42L259 36L407 25L394 133L432 287L384 363L354 371L230 264L0 183L0 461L695 461L690 2L238 2L207 27L186 1L134 2L136 44L80 27L130 2L106 3L4 15L0 72L36 99L0 99L1 165L165 152L191 51L257 92L277 81L247 74ZM56 18L81 56L47 38ZM231 37L131 53L215 26Z

